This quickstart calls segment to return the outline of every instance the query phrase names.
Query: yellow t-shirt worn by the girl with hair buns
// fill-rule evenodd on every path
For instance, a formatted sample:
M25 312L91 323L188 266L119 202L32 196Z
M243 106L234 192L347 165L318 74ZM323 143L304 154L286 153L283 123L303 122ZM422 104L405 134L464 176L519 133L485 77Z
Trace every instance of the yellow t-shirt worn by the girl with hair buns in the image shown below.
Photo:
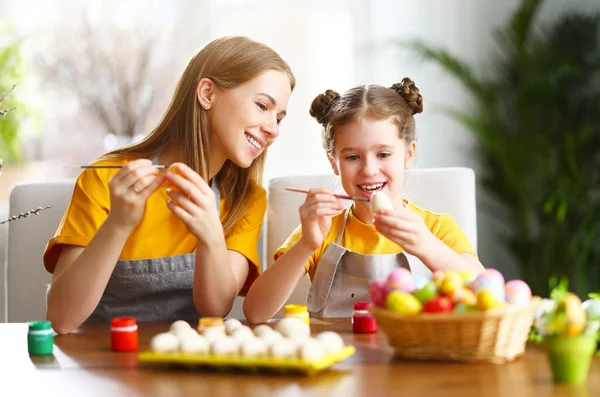
M442 240L452 250L459 254L469 253L476 255L469 239L450 215L436 214L435 212L418 207L408 200L405 200L405 202L412 212L423 218L425 225L427 225L431 233ZM331 221L331 229L327 233L321 247L311 255L308 262L304 265L311 281L315 276L319 259L321 259L325 249L330 243L337 240L338 234L344 224L344 214L346 211L348 209L344 209L334 215ZM298 226L285 243L275 251L275 260L293 246L301 236L302 225ZM352 211L348 214L346 229L340 240L340 245L350 251L363 255L397 254L404 251L401 246L379 233L375 229L375 226L359 221Z

